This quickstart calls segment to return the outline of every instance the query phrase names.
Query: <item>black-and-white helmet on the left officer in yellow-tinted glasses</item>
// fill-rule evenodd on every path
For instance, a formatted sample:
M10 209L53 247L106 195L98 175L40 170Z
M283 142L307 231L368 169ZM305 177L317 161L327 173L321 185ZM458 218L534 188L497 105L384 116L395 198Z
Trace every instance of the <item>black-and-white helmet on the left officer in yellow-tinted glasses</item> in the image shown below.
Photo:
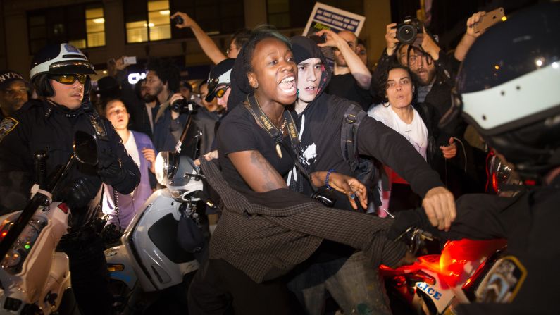
M31 63L30 80L35 85L37 94L51 97L54 90L49 83L48 75L94 75L94 66L89 63L85 54L70 44L49 44L41 49ZM91 80L87 77L84 89L89 93Z

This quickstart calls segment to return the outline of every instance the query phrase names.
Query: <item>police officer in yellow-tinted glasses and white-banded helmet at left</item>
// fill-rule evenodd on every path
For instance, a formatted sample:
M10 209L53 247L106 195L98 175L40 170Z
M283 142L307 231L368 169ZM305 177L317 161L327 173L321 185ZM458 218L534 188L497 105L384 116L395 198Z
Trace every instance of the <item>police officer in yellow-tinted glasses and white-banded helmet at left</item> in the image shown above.
M93 224L99 213L101 182L128 194L139 183L139 170L111 123L100 118L89 102L89 75L95 72L79 49L70 44L49 45L35 55L31 68L30 78L41 99L27 102L0 127L0 204L11 211L25 206L35 181L35 152L46 150L46 173L51 174L68 161L76 131L97 137L97 165L77 163L66 187L53 199L66 202L72 214L70 231L58 249L68 254L80 311L108 314L111 295L104 244Z

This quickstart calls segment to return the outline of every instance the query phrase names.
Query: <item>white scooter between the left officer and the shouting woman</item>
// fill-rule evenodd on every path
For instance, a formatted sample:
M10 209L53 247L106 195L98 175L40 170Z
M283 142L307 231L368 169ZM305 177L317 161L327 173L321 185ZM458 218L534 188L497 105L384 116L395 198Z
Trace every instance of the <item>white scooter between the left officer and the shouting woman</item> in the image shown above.
M204 209L197 206L203 199L203 176L192 159L179 154L192 122L192 108L187 112L187 125L175 152L159 152L156 158L156 178L166 187L151 194L144 209L132 218L120 237L121 245L105 251L114 314L142 311L157 303L161 292L173 289L185 292L182 300L186 302L189 278L205 255L206 242L199 230L201 214L197 212ZM180 232L188 235L187 241L196 243L189 250L178 238L181 228Z

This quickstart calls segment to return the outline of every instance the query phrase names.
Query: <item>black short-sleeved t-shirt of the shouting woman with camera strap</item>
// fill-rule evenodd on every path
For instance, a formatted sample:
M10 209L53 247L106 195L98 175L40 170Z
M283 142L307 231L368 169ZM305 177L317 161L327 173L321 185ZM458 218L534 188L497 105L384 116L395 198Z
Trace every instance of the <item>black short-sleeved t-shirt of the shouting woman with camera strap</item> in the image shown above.
M230 161L228 157L230 153L249 150L259 151L283 178L286 178L287 173L294 167L294 160L286 149L292 145L290 137L285 136L283 140L284 145L280 145L282 150L282 159L280 159L276 152L276 142L268 135L266 130L261 128L243 104L235 106L223 118L220 128L218 128L216 139L218 143L218 160L220 161L223 177L231 187L240 192L252 190Z

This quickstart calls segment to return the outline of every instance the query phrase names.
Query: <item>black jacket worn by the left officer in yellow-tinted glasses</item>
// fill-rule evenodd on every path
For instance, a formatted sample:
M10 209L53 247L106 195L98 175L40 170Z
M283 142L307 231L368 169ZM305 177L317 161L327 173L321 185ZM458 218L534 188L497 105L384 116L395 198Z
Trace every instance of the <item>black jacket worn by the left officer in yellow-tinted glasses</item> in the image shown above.
M83 106L75 111L68 111L47 101L32 100L24 104L12 118L6 120L17 123L8 132L3 132L4 137L0 138L0 178L3 179L0 181L0 207L4 212L23 209L29 199L30 187L35 183L35 152L47 150L49 157L46 159L46 174L49 175L65 165L73 153L73 137L76 131L94 135L94 127ZM127 178L113 187L118 192L128 194L138 185L140 172L125 151L122 140L111 123L105 118L101 118L101 122L104 124L108 140L97 140L98 152L104 149L111 150L118 156ZM64 184L73 183L73 180L80 177L91 180L99 187L98 190L101 190L101 178L97 175L97 168L81 163L76 163L70 170ZM100 198L101 193L98 192L85 207L87 209L70 209L70 226L73 230L92 223L99 210L97 205Z

